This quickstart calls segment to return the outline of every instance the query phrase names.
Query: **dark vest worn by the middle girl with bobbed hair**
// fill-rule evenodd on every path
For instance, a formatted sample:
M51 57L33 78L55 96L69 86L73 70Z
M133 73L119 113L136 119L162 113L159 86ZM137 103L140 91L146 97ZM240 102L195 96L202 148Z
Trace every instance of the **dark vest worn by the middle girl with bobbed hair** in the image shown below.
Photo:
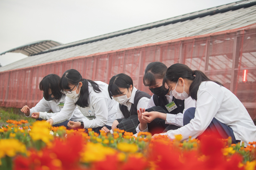
M148 99L151 98L151 96L149 94L147 94L146 92L137 90L134 96L134 101L133 104L131 106L130 111L128 110L127 106L121 105L119 103L119 108L121 110L121 112L123 113L125 118L129 118L131 115L138 115L137 113L137 105L139 103L139 100L143 97L146 97Z

